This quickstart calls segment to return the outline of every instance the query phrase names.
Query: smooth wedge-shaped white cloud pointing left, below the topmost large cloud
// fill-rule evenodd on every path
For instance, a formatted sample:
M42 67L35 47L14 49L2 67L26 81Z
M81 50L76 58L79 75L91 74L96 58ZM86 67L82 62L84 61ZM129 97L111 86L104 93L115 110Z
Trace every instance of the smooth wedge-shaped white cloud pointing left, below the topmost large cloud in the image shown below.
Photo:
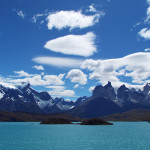
M44 47L54 52L88 57L96 52L95 38L93 32L84 35L67 35L48 41Z

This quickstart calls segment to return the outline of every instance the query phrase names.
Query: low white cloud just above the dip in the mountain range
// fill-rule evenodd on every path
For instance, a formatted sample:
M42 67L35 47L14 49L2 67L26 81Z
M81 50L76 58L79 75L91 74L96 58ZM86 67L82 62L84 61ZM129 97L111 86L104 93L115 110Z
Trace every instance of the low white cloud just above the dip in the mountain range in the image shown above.
M76 97L75 91L66 90L64 86L48 86L47 88L52 89L51 91L48 91L48 93L54 97Z

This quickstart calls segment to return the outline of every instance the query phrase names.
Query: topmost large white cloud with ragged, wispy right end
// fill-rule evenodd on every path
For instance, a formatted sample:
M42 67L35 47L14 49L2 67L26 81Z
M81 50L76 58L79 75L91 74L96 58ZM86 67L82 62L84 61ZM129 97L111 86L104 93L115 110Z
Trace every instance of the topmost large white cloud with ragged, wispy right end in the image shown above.
M86 16L81 11L73 10L54 12L47 17L48 29L70 28L72 30L74 28L87 28L96 24L103 15L104 13L96 13L95 15Z

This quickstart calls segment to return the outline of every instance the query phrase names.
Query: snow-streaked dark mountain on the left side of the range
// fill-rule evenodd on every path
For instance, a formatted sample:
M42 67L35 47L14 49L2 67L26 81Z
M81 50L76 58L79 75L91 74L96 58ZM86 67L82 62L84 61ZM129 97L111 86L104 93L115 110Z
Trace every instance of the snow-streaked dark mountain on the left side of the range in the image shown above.
M0 84L0 110L29 113L57 113L74 107L74 102L53 99L47 92L37 92L29 83L18 86Z

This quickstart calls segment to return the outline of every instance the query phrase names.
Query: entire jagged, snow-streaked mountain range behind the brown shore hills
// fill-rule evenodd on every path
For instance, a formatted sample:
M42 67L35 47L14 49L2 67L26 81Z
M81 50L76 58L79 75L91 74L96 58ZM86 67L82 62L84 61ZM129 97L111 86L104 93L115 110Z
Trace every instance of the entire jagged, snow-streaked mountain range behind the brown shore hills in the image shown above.
M36 114L68 113L81 118L93 118L142 108L150 109L150 84L143 90L121 85L115 92L111 82L94 88L91 97L76 101L53 99L48 92L38 92L29 83L10 87L0 84L0 111Z

